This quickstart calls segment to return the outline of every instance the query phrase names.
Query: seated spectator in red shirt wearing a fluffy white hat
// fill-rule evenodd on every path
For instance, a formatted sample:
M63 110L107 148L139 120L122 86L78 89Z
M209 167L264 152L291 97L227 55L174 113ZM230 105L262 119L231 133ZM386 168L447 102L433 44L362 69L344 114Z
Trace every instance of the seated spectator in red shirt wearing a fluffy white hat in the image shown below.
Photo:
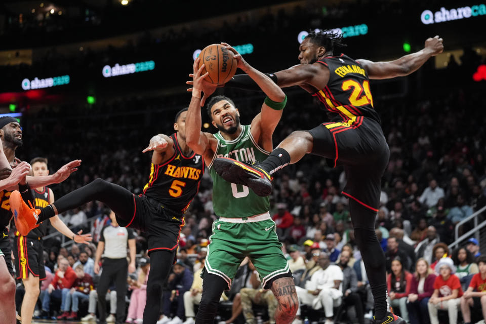
M462 296L461 282L454 274L456 266L451 258L442 258L437 262L435 270L439 275L434 281L434 293L429 299L427 307L431 324L439 324L437 310L443 309L449 313L449 324L457 324L457 306Z

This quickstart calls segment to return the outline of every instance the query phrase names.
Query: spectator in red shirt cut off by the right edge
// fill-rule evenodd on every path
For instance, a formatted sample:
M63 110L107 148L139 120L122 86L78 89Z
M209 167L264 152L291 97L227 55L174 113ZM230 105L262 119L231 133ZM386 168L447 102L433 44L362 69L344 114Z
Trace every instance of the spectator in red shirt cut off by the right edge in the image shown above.
M486 320L486 255L477 258L479 273L474 274L469 287L461 297L461 311L464 324L471 323L471 308L482 309L482 317ZM475 290L475 291L474 291Z

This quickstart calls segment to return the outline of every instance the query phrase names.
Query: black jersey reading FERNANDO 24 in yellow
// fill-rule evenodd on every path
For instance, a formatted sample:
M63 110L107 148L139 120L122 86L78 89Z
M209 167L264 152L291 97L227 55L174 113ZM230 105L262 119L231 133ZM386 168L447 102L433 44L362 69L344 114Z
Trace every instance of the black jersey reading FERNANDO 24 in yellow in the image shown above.
M331 121L357 127L364 116L380 123L373 108L368 74L359 62L344 54L324 57L317 62L329 68L329 82L312 96L325 106Z

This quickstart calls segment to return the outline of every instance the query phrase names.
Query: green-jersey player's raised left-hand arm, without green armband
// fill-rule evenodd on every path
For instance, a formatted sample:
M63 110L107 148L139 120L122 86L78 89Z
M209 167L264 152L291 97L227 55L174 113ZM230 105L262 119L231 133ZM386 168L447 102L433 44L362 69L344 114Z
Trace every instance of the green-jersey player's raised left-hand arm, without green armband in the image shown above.
M204 69L204 64L198 68L200 58L197 58L192 65L193 73L189 74L193 78L187 84L192 85L192 88L187 91L192 92L191 102L186 114L186 143L197 154L203 155L206 161L213 158L216 149L217 140L213 134L201 132L202 118L201 118L201 91L204 87L204 78L209 74L201 74ZM205 96L207 94L205 93Z

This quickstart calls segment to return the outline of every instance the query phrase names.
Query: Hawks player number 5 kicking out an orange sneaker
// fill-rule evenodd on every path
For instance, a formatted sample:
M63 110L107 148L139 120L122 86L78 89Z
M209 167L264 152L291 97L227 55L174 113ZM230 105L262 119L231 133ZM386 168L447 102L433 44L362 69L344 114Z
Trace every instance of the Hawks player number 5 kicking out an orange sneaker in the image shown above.
M30 209L18 191L12 192L10 198L12 211L19 215L15 224L23 234L27 234L36 223L91 200L108 205L115 212L120 226L145 231L151 270L143 322L149 324L158 319L162 287L176 257L184 213L197 194L204 174L204 159L185 142L186 111L187 108L182 109L176 115L175 134L155 135L143 150L153 151L152 163L149 182L138 196L116 184L96 179L38 211ZM131 260L129 270L135 271L135 260ZM123 320L125 318L116 318L117 322Z

